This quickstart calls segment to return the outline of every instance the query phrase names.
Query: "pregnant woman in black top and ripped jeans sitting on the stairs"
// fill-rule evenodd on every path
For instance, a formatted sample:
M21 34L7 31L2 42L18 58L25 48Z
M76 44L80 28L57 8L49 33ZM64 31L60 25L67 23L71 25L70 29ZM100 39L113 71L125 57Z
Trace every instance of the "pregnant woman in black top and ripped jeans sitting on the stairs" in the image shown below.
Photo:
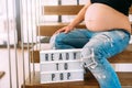
M82 67L98 80L100 88L121 88L107 58L121 53L129 44L131 0L88 0L77 16L55 32L56 50L82 48ZM87 29L74 30L85 21Z

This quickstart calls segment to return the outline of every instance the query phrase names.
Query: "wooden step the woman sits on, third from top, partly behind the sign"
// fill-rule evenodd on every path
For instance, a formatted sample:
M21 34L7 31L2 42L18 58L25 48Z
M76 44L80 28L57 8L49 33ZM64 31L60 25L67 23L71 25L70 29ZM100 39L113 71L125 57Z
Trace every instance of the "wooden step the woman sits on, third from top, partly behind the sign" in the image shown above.
M37 46L37 50L36 50L36 46ZM41 50L50 50L50 48L51 48L51 46L50 46L48 43L41 45ZM30 55L32 55L32 54L33 54L34 57L31 58L31 62L33 63L32 59L34 59L34 63L40 63L40 45L38 44L35 45L34 50L30 52ZM119 63L132 63L131 57L132 57L132 44L130 44L125 51L123 51L122 53L120 53L120 54L118 54L118 55L116 55L111 58L109 58L108 61L110 63L113 63L113 64L114 63L117 63L117 64L119 64Z

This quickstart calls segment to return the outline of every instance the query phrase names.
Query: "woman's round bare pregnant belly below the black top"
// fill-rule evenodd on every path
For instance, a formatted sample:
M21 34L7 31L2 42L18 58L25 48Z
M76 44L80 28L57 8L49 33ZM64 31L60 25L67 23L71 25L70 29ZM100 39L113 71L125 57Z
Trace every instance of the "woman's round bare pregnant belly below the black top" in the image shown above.
M87 9L85 23L90 31L124 29L131 32L131 24L127 15L101 3L94 3Z

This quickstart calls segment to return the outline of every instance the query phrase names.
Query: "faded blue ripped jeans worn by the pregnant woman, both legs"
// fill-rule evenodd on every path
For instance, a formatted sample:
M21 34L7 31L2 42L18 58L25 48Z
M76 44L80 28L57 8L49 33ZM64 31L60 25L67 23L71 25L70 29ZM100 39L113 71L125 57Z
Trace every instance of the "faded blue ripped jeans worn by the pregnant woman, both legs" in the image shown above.
M91 72L100 88L121 88L120 80L107 58L121 53L129 41L130 33L124 30L91 32L80 29L56 35L55 48L82 48L82 66Z

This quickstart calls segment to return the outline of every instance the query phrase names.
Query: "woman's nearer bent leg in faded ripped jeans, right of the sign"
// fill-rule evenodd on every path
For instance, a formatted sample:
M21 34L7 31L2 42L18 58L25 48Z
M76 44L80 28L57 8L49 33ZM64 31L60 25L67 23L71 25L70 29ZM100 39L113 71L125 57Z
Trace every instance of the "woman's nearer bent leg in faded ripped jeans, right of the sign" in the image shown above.
M129 44L123 31L100 32L82 47L82 66L98 80L100 88L121 88L119 78L107 58L122 52Z

